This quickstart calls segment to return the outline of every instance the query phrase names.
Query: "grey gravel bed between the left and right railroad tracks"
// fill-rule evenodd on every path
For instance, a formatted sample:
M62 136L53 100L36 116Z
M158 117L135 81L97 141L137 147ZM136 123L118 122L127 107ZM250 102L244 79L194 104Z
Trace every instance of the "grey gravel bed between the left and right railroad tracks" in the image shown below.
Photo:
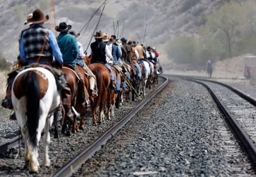
M232 137L209 92L175 79L73 176L254 176Z

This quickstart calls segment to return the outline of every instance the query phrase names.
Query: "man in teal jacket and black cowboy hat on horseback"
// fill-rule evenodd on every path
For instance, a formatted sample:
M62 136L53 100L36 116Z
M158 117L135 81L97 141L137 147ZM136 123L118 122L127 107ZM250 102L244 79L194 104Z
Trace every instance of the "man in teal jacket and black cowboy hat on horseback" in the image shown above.
M63 63L72 65L73 68L76 71L76 74L79 75L79 78L81 78L81 75L84 73L80 73L79 69L76 65L76 58L79 54L79 47L77 44L76 37L71 35L68 31L71 29L71 25L67 25L65 22L61 22L59 26L55 27L55 30L57 32L60 32L59 36L57 36L57 42L60 47L60 51L63 54ZM84 99L82 106L85 107L85 105L89 104L89 93L86 90L84 86L84 81L82 81L82 99ZM69 101L68 101L69 102ZM63 103L64 104L64 103ZM64 104L65 106L65 104Z

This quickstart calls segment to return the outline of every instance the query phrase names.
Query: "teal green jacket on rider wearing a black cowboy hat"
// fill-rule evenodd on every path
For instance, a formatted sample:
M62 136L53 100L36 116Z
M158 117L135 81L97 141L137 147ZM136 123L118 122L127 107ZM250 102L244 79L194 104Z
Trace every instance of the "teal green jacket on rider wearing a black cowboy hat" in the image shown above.
M76 37L68 32L61 32L57 37L57 41L62 53L63 63L76 66L76 58L79 54Z

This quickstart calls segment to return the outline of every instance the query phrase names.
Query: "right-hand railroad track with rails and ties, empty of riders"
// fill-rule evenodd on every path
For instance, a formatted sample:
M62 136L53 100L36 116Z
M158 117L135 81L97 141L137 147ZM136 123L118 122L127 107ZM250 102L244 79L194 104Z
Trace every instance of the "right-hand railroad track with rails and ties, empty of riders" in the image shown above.
M172 75L172 77L175 77ZM226 118L226 122L235 134L236 139L240 142L241 149L245 151L247 157L250 159L252 166L256 165L256 120L253 115L256 114L256 100L251 98L249 95L237 90L232 86L225 83L212 81L209 79L195 78L195 77L181 77L178 78L185 79L187 81L193 81L203 85L213 99L216 101L218 107L221 109L222 113ZM230 104L230 99L228 100L225 95L222 95L223 90L218 90L219 88L214 88L214 85L220 85L225 88L225 92L228 92L229 98L233 104ZM227 94L226 94L227 95ZM254 169L256 170L256 168Z

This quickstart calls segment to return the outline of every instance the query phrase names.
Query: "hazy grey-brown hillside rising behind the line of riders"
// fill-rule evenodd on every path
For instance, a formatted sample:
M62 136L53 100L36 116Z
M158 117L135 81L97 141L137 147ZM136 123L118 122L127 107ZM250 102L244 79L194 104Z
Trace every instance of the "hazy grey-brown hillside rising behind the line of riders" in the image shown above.
M71 24L73 29L79 32L85 23L88 22L93 12L103 2L93 0L55 1L56 25L64 21ZM124 37L139 41L139 36L146 45L156 47L160 54L162 54L161 59L169 64L168 57L164 52L164 45L167 41L180 32L196 33L200 25L204 24L204 15L218 9L223 2L223 0L109 0L106 1L105 10L98 29L112 35L114 33L113 22L116 26L118 20L119 30L116 35L122 37L120 34L122 33L124 20ZM36 2L32 0L1 0L0 52L7 60L11 62L16 60L18 55L18 39L20 32L26 28L23 23L27 15L38 7L44 11L44 14L49 14L50 5L48 3L50 1L47 0ZM82 37L79 40L83 43L85 49L89 45L90 36L92 36L90 31L95 26L101 10L92 19L86 32L81 32ZM53 18L49 20L53 32L55 32L54 21ZM47 27L47 24L44 24L44 26ZM146 38L144 39L145 29Z

